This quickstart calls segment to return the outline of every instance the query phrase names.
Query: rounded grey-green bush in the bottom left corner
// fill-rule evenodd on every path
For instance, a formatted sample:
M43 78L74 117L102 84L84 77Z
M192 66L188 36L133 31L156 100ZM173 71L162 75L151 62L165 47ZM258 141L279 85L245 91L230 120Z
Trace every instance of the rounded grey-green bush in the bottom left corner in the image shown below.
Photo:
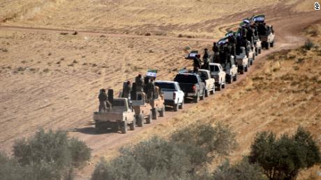
M68 138L64 131L46 133L43 129L13 145L13 154L29 179L70 177L73 167L89 160L90 152L84 142Z

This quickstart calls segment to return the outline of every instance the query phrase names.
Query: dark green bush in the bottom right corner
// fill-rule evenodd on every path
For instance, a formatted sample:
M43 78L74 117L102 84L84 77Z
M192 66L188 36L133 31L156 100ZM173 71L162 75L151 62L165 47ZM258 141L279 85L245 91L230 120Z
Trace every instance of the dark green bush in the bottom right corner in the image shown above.
M299 127L294 136L276 138L258 133L251 145L249 161L258 163L269 179L295 179L299 170L320 163L320 151L311 134Z

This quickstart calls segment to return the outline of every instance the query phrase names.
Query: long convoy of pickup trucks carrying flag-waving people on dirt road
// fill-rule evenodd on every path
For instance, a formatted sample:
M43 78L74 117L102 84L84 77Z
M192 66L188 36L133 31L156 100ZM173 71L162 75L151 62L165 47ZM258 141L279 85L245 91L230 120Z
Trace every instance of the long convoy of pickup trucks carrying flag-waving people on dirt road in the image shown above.
M247 26L251 25L251 22L256 23L255 25L258 23L264 32L259 32L252 39L251 47L250 45L239 47L238 54L228 56L229 62L225 60L224 63L217 63L212 58L207 66L202 66L208 69L195 70L194 68L193 71L188 71L183 68L174 76L173 81L155 81L157 70L149 70L144 81L135 81L130 88L126 87L127 83L124 83L123 90L119 92L117 98L114 98L113 90L108 90L107 104L110 104L110 107L107 111L94 112L96 132L112 130L126 133L128 127L130 130L135 130L136 126L141 127L144 124L150 124L152 120L157 120L158 117L163 117L165 107L167 110L179 111L184 108L184 103L188 99L197 103L209 95L214 95L216 90L225 88L226 83L237 81L238 73L248 72L255 56L261 54L263 47L265 49L274 47L273 26L265 26L264 18L264 15L248 18L251 21L246 21L246 23L250 22ZM244 26L244 23L240 26ZM239 32L228 34L236 36ZM229 39L227 36L224 38L224 40ZM214 51L214 56L217 56L215 53ZM198 51L193 50L186 59L194 60L197 56L200 57ZM137 78L142 79L142 75L140 74Z

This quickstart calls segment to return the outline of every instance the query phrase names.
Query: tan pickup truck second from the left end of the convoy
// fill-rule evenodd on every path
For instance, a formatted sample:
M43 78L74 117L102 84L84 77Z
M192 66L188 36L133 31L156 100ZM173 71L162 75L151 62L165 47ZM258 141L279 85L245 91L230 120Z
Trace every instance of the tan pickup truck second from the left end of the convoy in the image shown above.
M137 126L143 126L144 120L151 123L151 105L147 103L147 96L144 92L136 92L136 97L132 98L132 106L135 112ZM135 99L135 100L134 100Z

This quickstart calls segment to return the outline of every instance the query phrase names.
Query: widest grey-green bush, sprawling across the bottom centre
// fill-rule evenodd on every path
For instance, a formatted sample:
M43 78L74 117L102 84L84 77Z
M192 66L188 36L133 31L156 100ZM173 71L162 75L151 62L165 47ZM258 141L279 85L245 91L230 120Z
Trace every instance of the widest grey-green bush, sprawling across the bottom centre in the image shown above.
M192 124L173 133L170 140L154 137L121 149L111 162L100 161L91 179L186 179L196 177L197 167L235 147L228 126ZM154 178L151 178L154 177Z

